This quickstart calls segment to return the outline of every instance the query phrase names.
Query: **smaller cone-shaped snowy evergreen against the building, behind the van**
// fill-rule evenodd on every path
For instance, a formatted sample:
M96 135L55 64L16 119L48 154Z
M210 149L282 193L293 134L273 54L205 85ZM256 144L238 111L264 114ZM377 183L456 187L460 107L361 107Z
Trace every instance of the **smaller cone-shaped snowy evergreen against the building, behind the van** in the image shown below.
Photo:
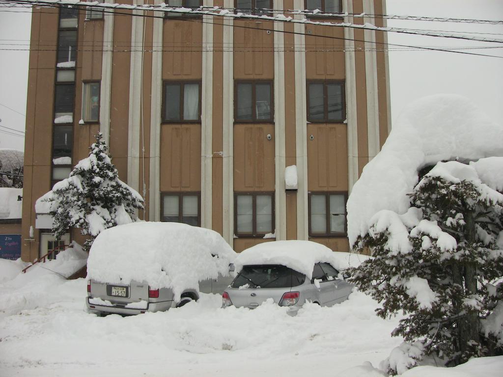
M103 134L95 137L89 157L80 160L68 178L54 184L52 195L44 199L50 203L54 237L80 228L90 236L86 250L101 231L135 221L136 210L143 208L143 198L119 179Z

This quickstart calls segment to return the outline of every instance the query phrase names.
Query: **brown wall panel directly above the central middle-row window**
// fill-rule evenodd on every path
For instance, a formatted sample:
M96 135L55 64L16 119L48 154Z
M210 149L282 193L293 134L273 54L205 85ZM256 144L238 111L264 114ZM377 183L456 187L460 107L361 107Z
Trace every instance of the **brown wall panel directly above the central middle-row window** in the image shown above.
M234 28L234 78L274 78L273 24L234 20L234 25L245 27Z

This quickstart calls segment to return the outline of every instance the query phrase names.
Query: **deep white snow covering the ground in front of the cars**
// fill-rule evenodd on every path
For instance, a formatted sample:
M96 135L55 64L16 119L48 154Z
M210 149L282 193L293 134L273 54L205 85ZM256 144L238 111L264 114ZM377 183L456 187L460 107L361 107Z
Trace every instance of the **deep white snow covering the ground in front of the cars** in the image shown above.
M376 367L402 342L390 336L398 319L378 318L377 303L360 292L295 317L271 303L221 309L219 295L169 312L97 317L84 308L85 279L19 269L0 264L14 276L0 284L1 376L382 376L368 361ZM502 367L500 357L403 375L496 377Z

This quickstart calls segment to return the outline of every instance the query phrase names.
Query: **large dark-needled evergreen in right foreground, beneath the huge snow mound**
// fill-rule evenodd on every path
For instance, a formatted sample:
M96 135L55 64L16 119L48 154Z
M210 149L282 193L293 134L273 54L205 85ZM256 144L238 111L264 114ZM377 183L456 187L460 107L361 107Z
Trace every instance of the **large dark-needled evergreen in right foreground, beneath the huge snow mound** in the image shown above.
M410 343L402 347L408 367L424 355L452 365L501 354L503 195L472 165L450 161L438 163L409 197L406 214L381 211L371 220L356 244L374 258L352 280L381 302L379 316L406 315L393 335ZM396 372L389 358L385 367Z

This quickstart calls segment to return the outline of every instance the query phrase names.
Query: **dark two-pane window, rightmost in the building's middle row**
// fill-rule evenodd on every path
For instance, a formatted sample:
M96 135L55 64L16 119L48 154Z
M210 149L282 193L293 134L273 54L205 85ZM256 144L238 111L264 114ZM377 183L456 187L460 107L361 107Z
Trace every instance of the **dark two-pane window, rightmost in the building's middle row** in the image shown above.
M343 122L345 114L344 83L314 81L307 83L307 120Z

